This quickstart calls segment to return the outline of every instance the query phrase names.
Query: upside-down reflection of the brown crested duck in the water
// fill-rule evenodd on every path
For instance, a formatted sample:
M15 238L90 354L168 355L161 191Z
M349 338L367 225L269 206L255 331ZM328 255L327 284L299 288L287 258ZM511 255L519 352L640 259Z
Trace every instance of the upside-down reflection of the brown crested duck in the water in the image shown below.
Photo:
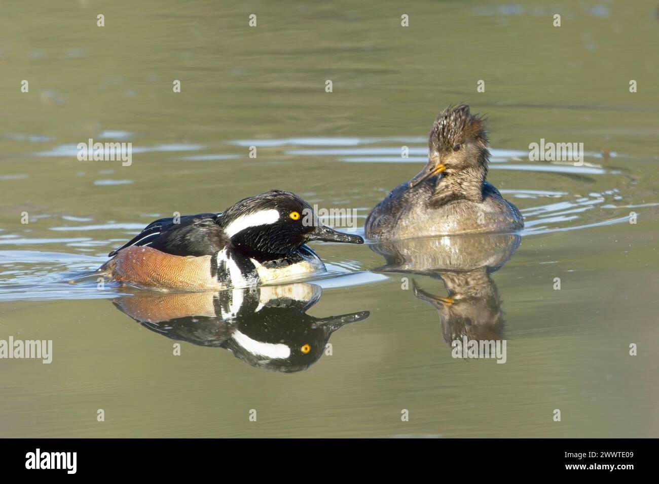
M490 274L512 257L519 235L483 234L388 241L371 249L387 263L378 271L428 275L444 281L448 296L435 296L413 282L416 298L437 309L445 342L455 348L465 341L501 339L503 311Z

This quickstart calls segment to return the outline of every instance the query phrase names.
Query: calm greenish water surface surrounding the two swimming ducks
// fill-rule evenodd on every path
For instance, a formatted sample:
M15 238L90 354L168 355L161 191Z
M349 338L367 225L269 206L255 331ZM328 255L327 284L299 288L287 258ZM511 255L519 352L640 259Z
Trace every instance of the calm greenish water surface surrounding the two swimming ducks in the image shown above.
M656 2L0 9L0 340L53 340L50 364L0 360L0 436L658 435ZM374 244L314 244L331 274L302 289L316 301L306 315L273 313L270 336L355 321L326 335L331 355L313 340L319 358L304 371L232 355L209 336L219 321L208 334L136 322L140 301L169 307L149 292L67 283L153 219L270 188L355 209L362 233L370 208L422 167L434 117L459 102L488 115L488 179L525 215L521 242L448 244L470 270L492 267L467 282L418 260L383 268ZM132 165L78 161L88 138L132 142ZM540 138L583 142L584 165L529 161ZM483 297L453 313L430 304L474 287ZM198 316L208 304L183 306ZM507 341L505 364L451 357L457 311L498 321L484 331ZM241 317L244 333L261 331L258 312Z

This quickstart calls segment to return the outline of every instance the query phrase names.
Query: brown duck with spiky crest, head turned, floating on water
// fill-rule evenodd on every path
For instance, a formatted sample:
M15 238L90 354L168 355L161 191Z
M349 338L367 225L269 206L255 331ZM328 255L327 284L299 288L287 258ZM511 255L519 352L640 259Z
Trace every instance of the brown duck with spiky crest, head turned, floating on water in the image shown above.
M449 106L428 139L428 164L395 188L366 219L366 236L420 236L509 232L524 227L515 205L488 183L488 138L484 118L469 106Z

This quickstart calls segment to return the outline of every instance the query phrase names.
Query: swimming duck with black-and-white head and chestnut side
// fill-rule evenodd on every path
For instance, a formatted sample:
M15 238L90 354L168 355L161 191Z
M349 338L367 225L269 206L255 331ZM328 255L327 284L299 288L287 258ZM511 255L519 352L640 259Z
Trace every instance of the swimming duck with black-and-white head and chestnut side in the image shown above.
M325 227L301 197L281 190L244 198L223 213L156 220L99 272L114 281L165 289L223 290L324 271L310 240L362 244Z

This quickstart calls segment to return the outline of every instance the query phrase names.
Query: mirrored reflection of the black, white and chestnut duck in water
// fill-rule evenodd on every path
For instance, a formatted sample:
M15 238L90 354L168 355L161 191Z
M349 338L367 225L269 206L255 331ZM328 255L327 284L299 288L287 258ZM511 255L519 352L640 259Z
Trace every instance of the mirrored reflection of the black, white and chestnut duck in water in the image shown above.
M368 311L317 318L306 311L322 289L296 283L221 292L136 294L115 306L174 340L224 348L252 366L293 373L317 362L329 336Z

